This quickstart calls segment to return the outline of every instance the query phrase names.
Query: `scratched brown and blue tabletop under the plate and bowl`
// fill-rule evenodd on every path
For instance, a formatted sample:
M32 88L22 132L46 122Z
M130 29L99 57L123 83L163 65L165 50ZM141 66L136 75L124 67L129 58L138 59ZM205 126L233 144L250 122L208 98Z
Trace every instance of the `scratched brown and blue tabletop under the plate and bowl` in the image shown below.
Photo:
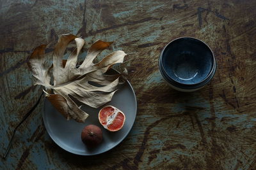
M93 157L58 147L42 121L44 99L15 135L0 169L256 169L256 1L0 1L0 153L36 103L31 50L72 33L124 50L138 113L120 145ZM158 57L193 36L218 62L204 89L170 89Z

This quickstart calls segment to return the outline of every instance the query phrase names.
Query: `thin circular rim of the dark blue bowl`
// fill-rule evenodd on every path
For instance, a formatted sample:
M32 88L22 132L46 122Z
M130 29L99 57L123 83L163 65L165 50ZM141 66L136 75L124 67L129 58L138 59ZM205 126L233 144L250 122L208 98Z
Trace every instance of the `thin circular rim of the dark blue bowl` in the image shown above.
M184 39L184 38L188 38L188 39L196 39L197 41L200 41L201 43L203 43L204 45L207 46L207 48L209 48L211 54L212 54L212 59L213 59L213 62L212 62L212 66L211 66L211 71L207 74L207 76L201 80L201 81L198 81L196 83L193 83L193 84L186 84L186 83L180 83L179 81L176 81L174 80L173 78L171 78L166 70L164 69L164 64L163 64L163 53L164 51L167 49L167 46L170 45L170 43L173 43L173 41L177 41L178 39ZM160 62L161 62L161 65L160 65ZM172 41L170 41L166 46L164 46L160 56L159 56L159 69L163 69L164 71L164 74L166 74L166 76L168 77L168 80L172 81L173 83L176 83L177 85L182 85L182 86L186 86L186 87L193 87L193 86L196 86L196 85L199 85L200 83L204 82L205 80L207 80L207 78L209 78L209 76L211 76L212 74L212 71L214 71L214 67L216 67L216 59L215 59L215 56L214 56L214 53L212 52L212 49L210 48L209 45L207 45L204 41L198 39L198 38L194 38L194 37L191 37L191 36L182 36L182 37L179 37L179 38L175 38L173 39ZM171 82L170 82L171 83ZM175 85L176 86L176 85Z

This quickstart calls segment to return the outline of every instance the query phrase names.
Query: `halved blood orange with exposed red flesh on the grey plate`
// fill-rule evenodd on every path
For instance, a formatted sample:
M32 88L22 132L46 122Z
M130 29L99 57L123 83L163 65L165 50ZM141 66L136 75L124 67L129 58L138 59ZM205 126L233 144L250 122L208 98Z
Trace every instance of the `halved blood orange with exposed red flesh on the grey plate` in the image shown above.
M105 106L99 111L99 121L105 129L115 132L124 126L125 115L114 106Z

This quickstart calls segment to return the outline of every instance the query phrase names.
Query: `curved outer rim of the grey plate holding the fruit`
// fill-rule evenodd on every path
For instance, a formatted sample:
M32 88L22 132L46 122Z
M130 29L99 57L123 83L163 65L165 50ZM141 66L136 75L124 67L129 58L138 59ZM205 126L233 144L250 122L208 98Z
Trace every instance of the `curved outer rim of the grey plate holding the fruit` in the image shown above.
M45 123L45 102L46 102L46 100L47 100L47 98L45 97L45 101L44 101L44 112L42 113L42 117L43 117L43 122L44 122L45 129L46 129L46 131L47 131L47 134L49 134L49 136L51 137L52 141L54 141L54 143L56 143L56 145L60 146L60 148L62 148L63 150L65 150L65 151L67 151L67 152L69 152L69 153L73 153L73 154L76 154L76 155L83 155L83 156L100 155L100 154L102 154L102 153L108 152L109 150L112 150L113 148L115 148L116 146L118 146L122 141L124 141L124 139L125 139L125 138L128 136L128 134L131 132L131 129L132 129L133 125L134 125L134 122L135 122L136 116L137 116L137 112L138 112L138 106L137 106L138 104L137 104L137 99L136 99L136 94L135 94L135 92L134 92L134 89L133 89L131 83L130 83L128 80L126 81L126 83L128 83L129 87L131 88L132 94L133 94L133 97L134 97L135 115L134 115L134 118L133 118L133 120L132 120L132 125L131 125L131 127L129 128L129 130L127 131L127 134L125 134L125 135L118 141L118 143L116 143L116 145L113 145L112 147L109 147L107 150L105 150L105 151L103 151L103 152L99 152L99 153L90 153L90 154L83 154L83 153L72 152L72 151L68 150L67 148L64 148L63 146L61 146L61 145L57 142L58 140L54 139L54 138L52 137L52 134L49 133L49 131L51 131L51 130L49 129L49 127L48 127L48 126L46 125L46 123Z

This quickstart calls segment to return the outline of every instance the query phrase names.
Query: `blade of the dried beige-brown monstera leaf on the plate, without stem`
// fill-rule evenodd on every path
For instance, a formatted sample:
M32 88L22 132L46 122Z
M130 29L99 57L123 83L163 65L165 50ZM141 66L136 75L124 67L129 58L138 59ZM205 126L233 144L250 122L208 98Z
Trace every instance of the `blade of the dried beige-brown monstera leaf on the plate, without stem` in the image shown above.
M67 45L72 40L76 41L77 48L67 60L63 60L62 57ZM81 66L76 67L77 56L84 43L84 39L77 38L72 34L61 35L52 54L53 67L47 69L45 69L44 64L45 45L35 48L29 58L29 67L36 78L34 85L43 85L47 92L54 92L54 94L48 94L45 91L46 97L52 105L64 117L73 118L77 122L84 122L88 114L81 110L81 107L77 106L72 98L74 97L93 108L99 108L99 106L111 101L122 74L106 75L105 73L113 64L124 62L126 55L123 51L118 50L94 64L95 57L113 43L97 40L88 50ZM50 84L51 70L53 85Z

